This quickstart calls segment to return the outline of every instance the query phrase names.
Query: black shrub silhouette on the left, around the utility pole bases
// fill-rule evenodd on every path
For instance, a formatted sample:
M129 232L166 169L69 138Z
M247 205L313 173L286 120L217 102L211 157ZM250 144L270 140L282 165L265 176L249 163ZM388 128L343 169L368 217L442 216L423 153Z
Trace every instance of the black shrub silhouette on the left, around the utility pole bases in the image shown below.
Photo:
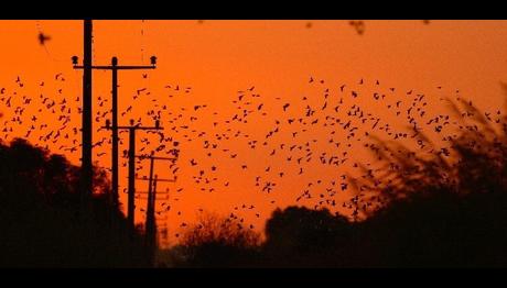
M17 139L0 142L0 266L145 266L140 236L108 201L109 180L94 168L89 214L79 217L79 167ZM110 223L116 223L111 229Z

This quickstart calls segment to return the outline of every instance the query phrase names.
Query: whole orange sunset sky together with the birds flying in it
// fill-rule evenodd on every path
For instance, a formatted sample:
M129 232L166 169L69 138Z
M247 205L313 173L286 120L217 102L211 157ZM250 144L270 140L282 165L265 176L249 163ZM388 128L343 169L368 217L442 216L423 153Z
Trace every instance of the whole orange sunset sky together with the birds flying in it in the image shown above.
M82 32L80 21L0 21L20 43L0 55L4 145L25 139L79 163L83 74L71 56L80 65ZM206 211L270 243L265 223L276 209L327 209L353 223L381 209L388 200L366 195L400 185L381 169L404 167L417 189L427 188L418 177L447 177L419 175L416 164L438 157L449 171L466 158L461 133L501 129L505 33L505 21L95 21L93 63L158 57L157 69L119 77L118 124L164 126L139 133L137 155L174 156L177 146L177 162L155 168L177 179L158 182L168 195L154 208L161 245L176 245ZM94 71L93 159L109 178L110 87L109 73ZM464 124L471 119L481 129ZM128 131L119 137L126 213ZM136 166L139 224L149 162Z

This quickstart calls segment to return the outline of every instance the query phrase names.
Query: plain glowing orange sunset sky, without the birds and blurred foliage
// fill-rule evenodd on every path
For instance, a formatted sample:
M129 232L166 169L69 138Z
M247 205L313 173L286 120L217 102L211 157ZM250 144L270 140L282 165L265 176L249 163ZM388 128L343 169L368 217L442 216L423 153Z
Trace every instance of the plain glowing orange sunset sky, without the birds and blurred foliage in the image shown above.
M310 27L309 22L312 23ZM147 78L142 77L144 71L120 71L119 111L123 112L129 106L133 108L120 117L119 122L128 124L129 119L141 118L143 124L151 125L153 122L147 112L168 106L169 110L162 117L165 136L173 136L182 143L177 182L160 186L161 190L170 189L170 200L161 200L160 203L168 202L171 210L161 214L168 220L159 223L169 224L171 236L180 231L182 222L192 222L199 208L226 215L233 211L261 230L271 210L295 203L295 198L308 182L316 185L317 179L323 181L319 188L321 190L315 188L313 191L313 199L299 202L313 207L319 195L326 193L325 188L331 187L333 179L352 173L353 159L366 160L368 154L357 144L363 144L365 140L356 137L350 141L350 148L344 148L346 133L337 129L336 134L331 135L333 128L321 125L323 117L319 124L306 125L306 132L295 124L287 124L288 119L301 117L306 103L320 110L325 102L323 97L326 88L330 89L328 109L332 110L337 99L344 98L344 108L336 113L344 122L347 122L347 109L360 104L365 113L381 118L380 124L396 125L400 120L386 110L385 103L404 100L406 92L411 89L427 96L428 113L442 110L438 99L455 95L456 89L461 96L474 100L484 109L497 109L503 102L499 81L507 80L507 21L431 21L428 25L416 20L365 21L365 33L358 35L345 20L94 22L94 64L109 64L111 56L117 56L120 65L148 65L151 55L159 58L158 68L147 71ZM37 43L39 32L52 37L45 47ZM80 141L80 133L74 136L73 128L80 126L80 115L76 113L80 101L74 100L82 92L82 71L73 70L71 56L82 57L82 21L0 21L3 43L0 88L6 88L6 93L0 97L12 97L10 108L0 101L0 112L4 114L0 119L0 129L3 130L4 121L13 117L15 107L26 107L21 117L23 123L7 123L13 128L13 132L0 130L2 139L25 136L31 125L30 118L36 115L34 123L47 123L48 128L32 132L29 140L45 145L39 137L62 126L64 120L58 120L60 115L69 115L67 128L62 131L68 133L69 137L55 143L48 141L47 144L53 152L65 154L73 163L78 163L80 149L71 153L65 148L75 146L73 140ZM65 81L60 77L55 79L58 73L62 73ZM18 76L23 87L15 82ZM315 79L312 84L309 82L311 77ZM359 85L362 78L364 84ZM321 79L324 84L320 82ZM376 80L379 80L378 86ZM44 86L41 86L41 81L44 81ZM343 84L347 86L342 95L338 87ZM172 88L165 88L168 85ZM175 86L181 89L175 91ZM247 91L238 110L239 103L233 102L238 100L238 90L245 91L252 86L255 89ZM436 89L438 86L443 89ZM147 90L133 99L136 90L144 87ZM186 87L191 87L188 92L185 92ZM396 92L390 92L390 87L396 87ZM62 91L58 92L58 89ZM360 96L352 99L352 90ZM94 117L110 109L110 100L103 107L98 100L98 97L109 99L109 91L110 73L94 71ZM386 93L386 100L374 100L371 95L375 91ZM51 112L52 108L37 111L43 108L41 93L43 98L50 97L56 101L55 113ZM251 93L260 96L251 97ZM32 103L23 106L23 96L32 98ZM302 100L303 97L308 98L306 102ZM72 109L69 114L60 111L58 104L63 99L68 101L66 109ZM263 108L257 111L260 103L263 103ZM285 103L291 103L291 107L283 112L282 106ZM194 106L198 104L207 107L194 111ZM182 111L182 108L186 110ZM225 122L242 109L255 110L247 117L247 123ZM168 111L176 117L181 113L182 118L171 123L169 121L173 115ZM266 115L261 114L262 111L266 111ZM277 120L283 123L276 124ZM104 121L94 121L94 129L103 125ZM217 122L217 125L214 126L213 122ZM188 129L182 125L188 125ZM277 126L280 132L263 146L266 134ZM370 130L368 125L359 128ZM240 133L236 136L237 131ZM300 135L294 137L292 132L296 131ZM205 134L198 136L203 132ZM216 133L225 133L229 140L218 141ZM127 134L120 136L125 140L120 145L121 155L121 151L127 149L128 137ZM94 142L103 137L109 137L109 134L95 133ZM142 137L151 142L150 148L157 147L153 144L157 137L140 132L138 149L143 146ZM335 148L330 145L330 137L342 141L342 146ZM206 155L208 149L203 148L205 140L218 144L211 157ZM248 146L251 140L259 142L256 148ZM304 145L313 140L317 142L311 143L312 160L304 167L295 165L295 158L306 153L304 148L298 155L289 153L288 146ZM282 143L287 144L284 149L280 148ZM61 148L62 145L64 147ZM276 154L270 156L273 149L277 149ZM109 167L108 154L97 156L108 151L107 143L94 149L94 162ZM350 159L344 165L336 167L319 163L319 156L324 152L326 155L338 155L345 151L348 151L347 157ZM230 158L230 154L237 154L237 157ZM290 155L293 155L293 159L287 160ZM191 159L195 159L197 165L192 166ZM120 164L123 162L121 159ZM242 169L241 165L247 165L247 169ZM215 171L211 170L212 166L216 166ZM268 166L270 173L265 171ZM168 164L158 163L157 168L160 177L170 177ZM302 175L299 175L300 168L304 169ZM217 179L208 185L196 185L193 177L198 176L199 170L205 171L204 177ZM284 173L283 177L279 176L281 171ZM147 175L148 169L139 174ZM120 166L120 191L127 185L126 176L127 168ZM271 181L277 186L270 193L262 192L262 185L256 187L257 176L261 176L262 184ZM225 182L229 182L229 186L224 187ZM145 182L139 181L138 190L145 190ZM201 190L203 187L205 191ZM176 192L180 188L183 190ZM209 188L214 188L214 191L209 192ZM348 196L337 192L332 197L342 203ZM327 197L326 193L323 199ZM126 195L121 193L121 200L126 199ZM273 200L274 203L271 202ZM256 208L241 209L244 203ZM138 202L138 212L140 206L144 208L144 201ZM143 221L141 212L137 219ZM174 243L173 237L170 240Z

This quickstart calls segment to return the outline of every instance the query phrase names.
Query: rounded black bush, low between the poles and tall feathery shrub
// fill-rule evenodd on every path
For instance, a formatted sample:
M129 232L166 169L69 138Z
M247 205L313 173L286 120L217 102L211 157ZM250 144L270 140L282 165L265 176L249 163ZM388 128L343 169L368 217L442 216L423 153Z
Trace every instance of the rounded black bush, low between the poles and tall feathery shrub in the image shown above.
M274 266L343 266L353 223L327 209L277 209L266 224L263 252Z

